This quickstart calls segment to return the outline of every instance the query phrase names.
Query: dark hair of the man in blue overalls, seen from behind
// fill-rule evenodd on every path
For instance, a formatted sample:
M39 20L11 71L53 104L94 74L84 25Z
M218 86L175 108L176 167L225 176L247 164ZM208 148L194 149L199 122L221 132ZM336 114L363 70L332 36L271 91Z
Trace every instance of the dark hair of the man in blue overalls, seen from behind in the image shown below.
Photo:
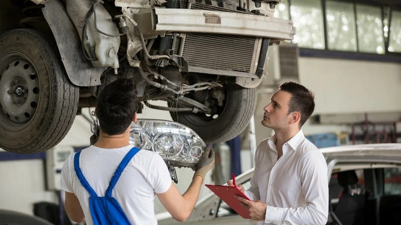
M137 107L136 88L132 80L120 78L107 84L96 103L100 129L109 135L123 133L131 124Z

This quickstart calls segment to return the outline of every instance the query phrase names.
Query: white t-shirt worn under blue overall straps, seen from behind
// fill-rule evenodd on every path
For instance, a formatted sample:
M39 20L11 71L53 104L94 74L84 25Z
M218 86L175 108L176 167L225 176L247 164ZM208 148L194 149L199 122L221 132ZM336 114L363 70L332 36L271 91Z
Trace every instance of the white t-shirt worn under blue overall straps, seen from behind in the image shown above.
M79 163L82 173L98 196L105 195L115 169L132 147L106 149L91 145L81 151ZM86 224L93 224L89 211L90 195L75 174L74 154L70 154L64 162L61 189L75 193L84 211ZM170 173L161 156L153 151L139 150L121 173L112 196L132 224L157 224L155 193L164 193L171 184Z

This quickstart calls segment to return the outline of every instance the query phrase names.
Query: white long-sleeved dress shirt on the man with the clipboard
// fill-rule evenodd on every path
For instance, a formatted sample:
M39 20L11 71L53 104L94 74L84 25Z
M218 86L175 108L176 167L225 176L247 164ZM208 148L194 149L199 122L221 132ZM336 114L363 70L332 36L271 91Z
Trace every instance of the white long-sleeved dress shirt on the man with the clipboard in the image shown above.
M325 224L329 197L323 154L300 130L277 160L275 141L273 135L259 143L251 187L245 191L267 204L265 221L259 224Z

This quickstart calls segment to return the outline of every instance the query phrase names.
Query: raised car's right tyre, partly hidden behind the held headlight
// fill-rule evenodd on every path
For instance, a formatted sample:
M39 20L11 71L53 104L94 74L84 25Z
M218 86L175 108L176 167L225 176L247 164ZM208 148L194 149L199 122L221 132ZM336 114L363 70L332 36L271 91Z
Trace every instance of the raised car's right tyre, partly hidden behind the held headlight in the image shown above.
M249 124L255 111L257 92L256 88L235 84L227 84L221 89L224 96L220 99L222 102L209 100L208 104L213 111L211 114L170 111L172 119L193 129L207 143L233 139ZM169 102L169 105L174 103Z

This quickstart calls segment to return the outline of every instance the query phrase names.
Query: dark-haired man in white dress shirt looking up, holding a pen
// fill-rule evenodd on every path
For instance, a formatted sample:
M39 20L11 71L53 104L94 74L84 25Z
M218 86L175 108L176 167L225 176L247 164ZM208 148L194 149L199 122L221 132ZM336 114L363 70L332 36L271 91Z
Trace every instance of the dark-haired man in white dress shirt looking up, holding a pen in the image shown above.
M262 125L275 134L256 148L251 186L245 191L251 200L235 196L260 225L326 224L327 164L301 129L314 108L314 93L295 82L282 83L263 108Z

